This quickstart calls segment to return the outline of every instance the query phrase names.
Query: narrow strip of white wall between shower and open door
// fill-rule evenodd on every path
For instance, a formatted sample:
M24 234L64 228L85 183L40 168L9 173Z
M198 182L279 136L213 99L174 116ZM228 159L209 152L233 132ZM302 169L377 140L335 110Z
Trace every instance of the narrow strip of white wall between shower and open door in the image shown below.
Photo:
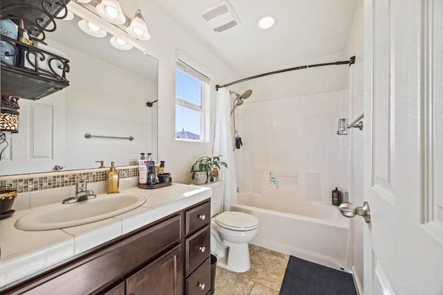
M354 21L347 43L347 52L356 56L356 62L347 79L346 89L351 96L351 117L363 113L363 0L357 1ZM363 131L351 131L350 202L355 206L363 204ZM353 272L359 289L363 292L363 218L353 218L354 267Z

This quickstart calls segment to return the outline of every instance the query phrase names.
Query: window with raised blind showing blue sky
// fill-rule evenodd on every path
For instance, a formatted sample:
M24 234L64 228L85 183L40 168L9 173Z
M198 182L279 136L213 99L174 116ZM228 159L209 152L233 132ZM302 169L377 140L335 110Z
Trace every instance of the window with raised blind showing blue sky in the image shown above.
M177 60L175 70L175 138L206 141L210 78Z

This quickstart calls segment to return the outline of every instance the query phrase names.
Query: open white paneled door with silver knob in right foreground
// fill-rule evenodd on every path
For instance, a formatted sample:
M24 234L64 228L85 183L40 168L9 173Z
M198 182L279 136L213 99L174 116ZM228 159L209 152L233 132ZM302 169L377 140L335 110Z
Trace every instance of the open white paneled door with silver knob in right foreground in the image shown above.
M365 0L364 294L443 294L442 16Z

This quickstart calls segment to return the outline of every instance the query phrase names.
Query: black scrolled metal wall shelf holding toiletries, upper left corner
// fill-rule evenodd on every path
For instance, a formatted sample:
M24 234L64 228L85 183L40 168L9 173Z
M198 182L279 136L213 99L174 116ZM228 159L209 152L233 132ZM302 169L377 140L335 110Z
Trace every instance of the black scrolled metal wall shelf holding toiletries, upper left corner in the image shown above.
M23 19L26 30L34 43L44 40L44 32L53 32L56 28L57 14L66 10L70 0L1 0L1 19L12 21ZM52 24L52 25L51 25ZM26 56L35 68L24 69L1 61L1 95L38 100L69 86L66 73L69 72L69 60L41 48L24 44L10 37L1 35L1 41L14 48L18 58L19 48L26 48L26 54L33 53L35 62Z

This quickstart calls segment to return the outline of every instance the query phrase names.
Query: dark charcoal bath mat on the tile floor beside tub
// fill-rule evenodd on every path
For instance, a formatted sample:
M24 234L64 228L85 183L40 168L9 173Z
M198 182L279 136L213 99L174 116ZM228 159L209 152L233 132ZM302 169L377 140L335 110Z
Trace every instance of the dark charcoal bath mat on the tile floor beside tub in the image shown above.
M280 295L356 295L352 274L289 257Z

